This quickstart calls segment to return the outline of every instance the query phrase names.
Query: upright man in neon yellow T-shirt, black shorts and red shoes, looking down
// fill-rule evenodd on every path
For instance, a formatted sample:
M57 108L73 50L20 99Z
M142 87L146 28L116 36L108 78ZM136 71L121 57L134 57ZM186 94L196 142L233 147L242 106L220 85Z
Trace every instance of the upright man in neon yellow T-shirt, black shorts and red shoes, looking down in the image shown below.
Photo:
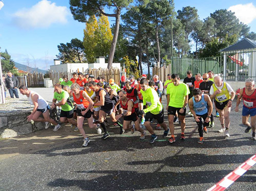
M185 116L186 116L186 105L188 103L189 89L188 85L180 82L179 74L172 74L171 81L167 87L167 108L169 127L171 130L170 143L175 142L174 136L174 115L178 112L178 117L181 122L181 139L185 140Z

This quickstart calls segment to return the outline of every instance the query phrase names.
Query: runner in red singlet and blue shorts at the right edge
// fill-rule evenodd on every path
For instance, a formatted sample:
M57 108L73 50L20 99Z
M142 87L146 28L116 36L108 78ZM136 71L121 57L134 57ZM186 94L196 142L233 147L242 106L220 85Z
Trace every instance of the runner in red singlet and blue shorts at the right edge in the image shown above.
M235 111L239 111L239 104L243 98L242 123L247 126L245 132L248 133L252 129L252 139L256 140L255 123L256 123L256 88L251 78L245 80L245 87L240 90ZM251 116L251 124L248 122Z

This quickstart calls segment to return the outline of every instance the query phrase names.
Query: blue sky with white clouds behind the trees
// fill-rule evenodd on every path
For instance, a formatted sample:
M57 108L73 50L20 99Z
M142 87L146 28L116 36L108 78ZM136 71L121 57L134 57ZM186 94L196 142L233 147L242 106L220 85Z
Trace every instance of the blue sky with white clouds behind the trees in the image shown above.
M57 45L72 38L83 40L85 23L73 19L69 0L0 0L0 47L18 63L49 69L58 54ZM225 2L225 3L224 3ZM175 11L190 6L201 20L215 10L235 12L240 21L256 32L256 0L174 0ZM109 18L110 24L114 22Z

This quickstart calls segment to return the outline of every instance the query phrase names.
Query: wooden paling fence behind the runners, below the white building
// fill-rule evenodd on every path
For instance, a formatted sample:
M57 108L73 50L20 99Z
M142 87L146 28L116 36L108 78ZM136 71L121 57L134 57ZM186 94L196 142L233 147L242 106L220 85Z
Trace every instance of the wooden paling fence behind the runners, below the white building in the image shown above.
M77 71L76 71L77 72ZM125 76L125 69L119 69L119 68L89 68L88 69L88 74L93 75L95 79L97 77L104 77L106 82L109 82L109 79L113 78L116 83L119 83L121 80L121 76ZM56 84L59 82L60 78L63 78L64 75L68 76L68 79L70 80L72 78L72 72L70 71L65 71L63 73L56 73L54 71L50 72L50 79L52 80L53 84Z

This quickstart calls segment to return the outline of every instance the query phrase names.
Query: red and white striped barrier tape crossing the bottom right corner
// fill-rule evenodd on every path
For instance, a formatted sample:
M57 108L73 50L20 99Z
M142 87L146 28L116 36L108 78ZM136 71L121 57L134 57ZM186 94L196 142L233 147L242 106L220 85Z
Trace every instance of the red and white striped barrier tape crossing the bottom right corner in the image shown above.
M241 164L237 169L233 172L229 173L225 176L220 182L216 183L207 191L222 191L228 188L235 180L241 177L246 171L248 171L251 166L256 163L256 154L246 160L243 164Z

